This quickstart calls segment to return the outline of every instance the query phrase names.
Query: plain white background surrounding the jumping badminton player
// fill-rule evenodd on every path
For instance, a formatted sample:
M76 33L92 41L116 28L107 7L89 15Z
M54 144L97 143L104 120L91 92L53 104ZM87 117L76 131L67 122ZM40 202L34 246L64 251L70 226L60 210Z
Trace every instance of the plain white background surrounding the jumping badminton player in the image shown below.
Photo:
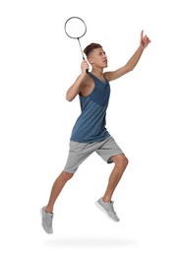
M0 2L0 215L3 255L179 255L179 27L176 0ZM81 40L103 45L123 66L144 30L151 39L136 69L111 83L107 129L130 163L114 193L121 222L94 206L112 165L92 155L55 206L54 234L39 209L64 167L78 97L78 41L64 32L83 18ZM96 254L95 254L96 253ZM77 254L78 255L78 254Z

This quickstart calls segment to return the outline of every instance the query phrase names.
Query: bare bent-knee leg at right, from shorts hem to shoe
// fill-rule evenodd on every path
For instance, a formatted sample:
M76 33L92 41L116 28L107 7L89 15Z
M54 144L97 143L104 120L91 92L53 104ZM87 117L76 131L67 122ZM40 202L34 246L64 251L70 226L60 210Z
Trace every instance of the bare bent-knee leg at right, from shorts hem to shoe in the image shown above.
M111 160L115 163L114 168L109 176L108 185L106 191L102 197L103 202L108 203L111 201L112 194L119 183L123 172L128 165L128 159L124 154L117 155L111 158Z

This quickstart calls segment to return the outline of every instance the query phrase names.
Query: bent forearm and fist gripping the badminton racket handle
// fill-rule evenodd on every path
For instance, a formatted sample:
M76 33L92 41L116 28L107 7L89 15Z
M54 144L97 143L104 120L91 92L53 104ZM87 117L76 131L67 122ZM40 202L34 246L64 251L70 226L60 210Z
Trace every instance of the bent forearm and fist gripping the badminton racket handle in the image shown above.
M81 65L82 74L77 78L75 83L68 89L66 93L66 99L68 101L72 101L82 90L85 86L85 80L88 76L86 70L89 68L88 62L84 60Z

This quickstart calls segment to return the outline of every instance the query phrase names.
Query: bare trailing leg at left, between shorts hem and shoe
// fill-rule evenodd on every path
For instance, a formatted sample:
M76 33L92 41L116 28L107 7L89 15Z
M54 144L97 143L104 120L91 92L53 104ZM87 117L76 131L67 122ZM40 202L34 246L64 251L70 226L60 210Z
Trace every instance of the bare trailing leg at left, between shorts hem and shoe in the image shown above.
M59 196L66 182L70 180L73 177L73 175L74 173L62 171L61 174L57 177L51 189L49 202L45 208L46 213L53 213L53 207L57 197Z

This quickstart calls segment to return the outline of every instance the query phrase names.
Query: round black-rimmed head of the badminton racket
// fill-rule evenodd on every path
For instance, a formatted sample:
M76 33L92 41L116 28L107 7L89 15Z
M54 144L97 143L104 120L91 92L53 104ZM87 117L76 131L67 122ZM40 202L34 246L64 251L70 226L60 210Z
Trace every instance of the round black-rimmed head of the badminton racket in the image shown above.
M66 21L64 30L70 38L79 39L86 34L87 25L84 20L74 16Z

